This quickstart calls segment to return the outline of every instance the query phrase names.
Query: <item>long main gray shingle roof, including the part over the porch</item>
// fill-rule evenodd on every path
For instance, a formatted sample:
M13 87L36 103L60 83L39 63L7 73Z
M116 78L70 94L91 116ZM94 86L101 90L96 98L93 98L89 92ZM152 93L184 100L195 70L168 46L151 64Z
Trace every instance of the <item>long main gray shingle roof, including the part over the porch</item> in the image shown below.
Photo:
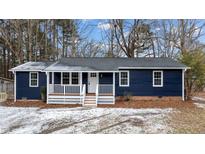
M120 68L186 68L171 58L62 58L44 71L117 71Z

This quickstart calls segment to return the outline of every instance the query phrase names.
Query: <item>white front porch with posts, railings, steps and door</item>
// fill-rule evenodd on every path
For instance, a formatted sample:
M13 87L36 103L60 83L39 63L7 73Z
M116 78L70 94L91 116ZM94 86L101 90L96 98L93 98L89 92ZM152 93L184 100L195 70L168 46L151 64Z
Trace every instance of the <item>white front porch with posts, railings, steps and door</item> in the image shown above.
M61 83L55 83L54 72L46 72L48 104L97 106L97 104L115 103L115 72L112 72L111 84L99 82L100 72L74 72L75 74L78 73L76 84L72 84L72 80L74 80L71 78L73 72L60 73ZM68 75L70 80L69 84L63 84L63 73L70 73L70 75ZM87 73L87 83L83 82L82 73Z

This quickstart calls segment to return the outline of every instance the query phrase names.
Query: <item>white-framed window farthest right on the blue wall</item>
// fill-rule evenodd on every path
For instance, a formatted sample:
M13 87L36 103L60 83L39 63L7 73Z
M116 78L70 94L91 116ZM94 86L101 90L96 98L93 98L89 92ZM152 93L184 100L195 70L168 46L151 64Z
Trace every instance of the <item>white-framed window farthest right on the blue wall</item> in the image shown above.
M153 71L153 87L163 87L163 71Z

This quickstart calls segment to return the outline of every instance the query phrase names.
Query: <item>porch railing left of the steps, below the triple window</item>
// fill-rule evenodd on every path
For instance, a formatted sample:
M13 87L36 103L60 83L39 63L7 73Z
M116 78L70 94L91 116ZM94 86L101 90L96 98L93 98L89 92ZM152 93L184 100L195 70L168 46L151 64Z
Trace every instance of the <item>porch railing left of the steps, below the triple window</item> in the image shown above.
M49 94L51 93L81 93L81 85L61 85L61 84L50 84Z

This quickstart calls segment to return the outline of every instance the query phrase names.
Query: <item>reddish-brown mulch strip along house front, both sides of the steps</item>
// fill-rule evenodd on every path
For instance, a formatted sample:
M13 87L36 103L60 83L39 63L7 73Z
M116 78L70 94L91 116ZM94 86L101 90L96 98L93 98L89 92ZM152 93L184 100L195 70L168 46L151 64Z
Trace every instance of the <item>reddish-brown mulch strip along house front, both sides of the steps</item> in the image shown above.
M7 107L39 107L39 108L74 108L81 107L79 104L46 104L42 101L17 101L8 100L1 104ZM102 108L195 108L191 102L183 101L116 101L114 105L100 104Z

